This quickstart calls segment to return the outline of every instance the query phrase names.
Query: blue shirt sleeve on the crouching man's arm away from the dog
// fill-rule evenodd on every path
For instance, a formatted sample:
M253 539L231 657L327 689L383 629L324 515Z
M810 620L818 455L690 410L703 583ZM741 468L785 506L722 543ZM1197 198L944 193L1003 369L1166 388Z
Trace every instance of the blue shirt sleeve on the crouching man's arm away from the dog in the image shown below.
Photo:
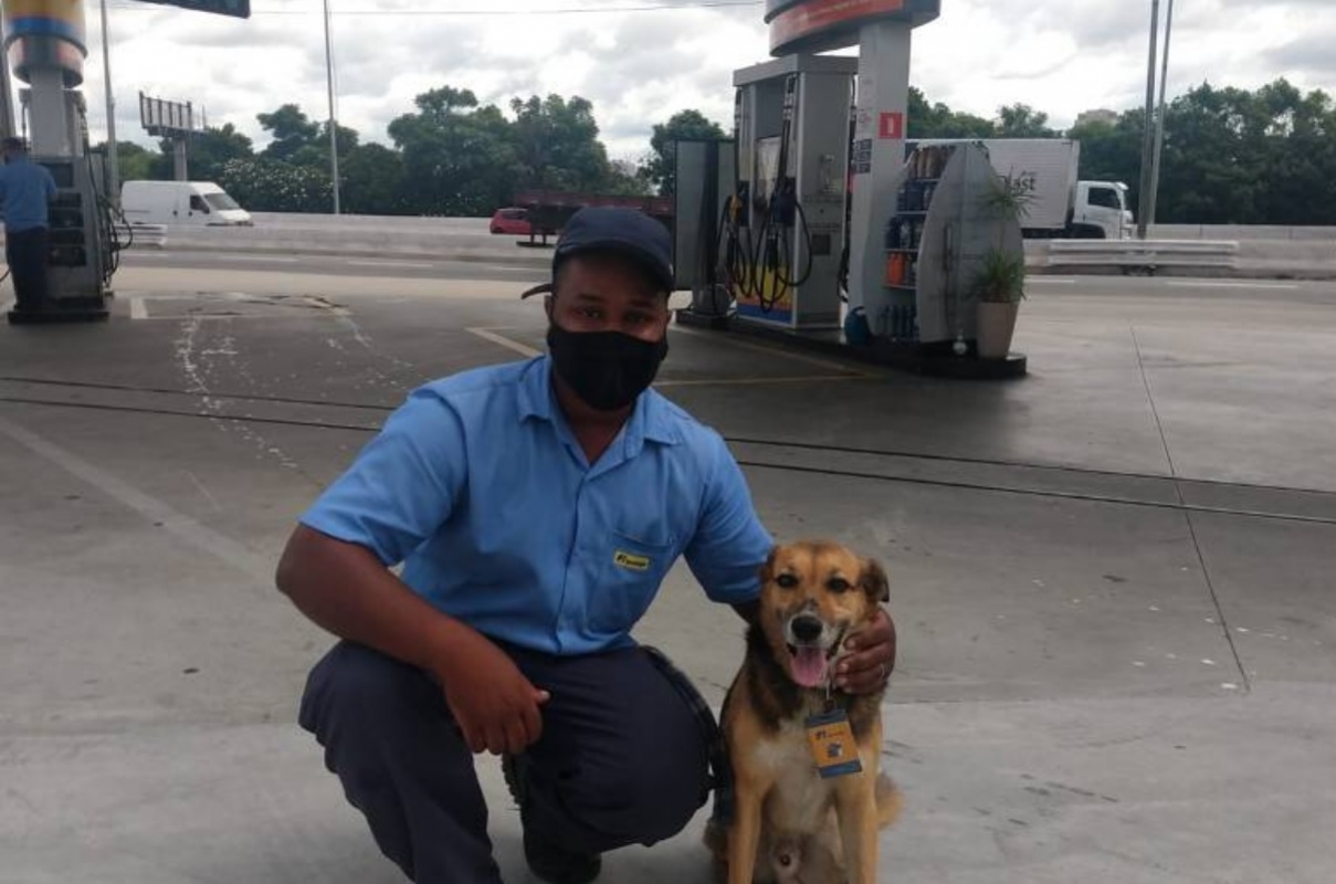
M393 566L450 517L466 483L458 414L434 393L417 390L299 521L366 546Z

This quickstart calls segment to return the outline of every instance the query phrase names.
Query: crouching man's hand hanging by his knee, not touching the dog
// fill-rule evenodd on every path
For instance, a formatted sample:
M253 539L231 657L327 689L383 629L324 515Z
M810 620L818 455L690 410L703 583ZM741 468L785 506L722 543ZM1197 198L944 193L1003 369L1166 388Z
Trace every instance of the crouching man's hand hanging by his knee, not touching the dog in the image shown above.
M482 636L454 648L440 674L445 702L473 753L518 754L542 734L538 690L500 648Z

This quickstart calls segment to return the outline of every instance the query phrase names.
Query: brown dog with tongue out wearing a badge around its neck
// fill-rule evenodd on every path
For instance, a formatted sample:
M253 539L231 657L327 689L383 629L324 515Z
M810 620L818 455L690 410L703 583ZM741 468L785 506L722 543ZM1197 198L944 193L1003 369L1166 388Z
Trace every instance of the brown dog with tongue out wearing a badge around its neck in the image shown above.
M776 547L760 614L724 697L727 832L705 841L728 884L875 884L878 832L900 808L880 773L882 694L830 688L844 640L890 600L886 572L838 543Z

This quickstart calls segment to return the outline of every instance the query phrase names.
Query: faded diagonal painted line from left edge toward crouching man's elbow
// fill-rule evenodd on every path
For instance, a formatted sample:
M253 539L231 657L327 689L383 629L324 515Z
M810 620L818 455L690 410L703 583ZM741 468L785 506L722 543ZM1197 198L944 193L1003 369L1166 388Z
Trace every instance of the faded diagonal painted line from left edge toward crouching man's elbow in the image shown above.
M274 584L274 562L262 558L254 550L247 549L231 537L220 534L207 525L202 525L171 505L159 501L156 497L144 494L128 482L84 461L77 454L64 450L51 439L5 418L0 418L0 434L9 437L37 457L55 463L71 475L83 479L122 506L139 513L151 525L160 526L187 543L243 572L258 585L271 586Z

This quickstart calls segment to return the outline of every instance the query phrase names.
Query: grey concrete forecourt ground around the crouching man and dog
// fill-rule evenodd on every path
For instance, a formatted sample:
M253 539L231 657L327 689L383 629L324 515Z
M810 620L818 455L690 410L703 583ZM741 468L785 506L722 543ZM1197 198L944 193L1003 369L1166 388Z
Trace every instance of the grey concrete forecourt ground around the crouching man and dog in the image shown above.
M170 263L106 324L0 326L0 883L390 884L294 722L330 638L273 566L387 409L541 347L541 307L525 272ZM1018 347L969 383L672 333L661 389L770 527L892 574L879 880L1336 879L1336 287L1046 278ZM717 702L739 626L679 569L640 634ZM604 880L705 884L703 821Z

